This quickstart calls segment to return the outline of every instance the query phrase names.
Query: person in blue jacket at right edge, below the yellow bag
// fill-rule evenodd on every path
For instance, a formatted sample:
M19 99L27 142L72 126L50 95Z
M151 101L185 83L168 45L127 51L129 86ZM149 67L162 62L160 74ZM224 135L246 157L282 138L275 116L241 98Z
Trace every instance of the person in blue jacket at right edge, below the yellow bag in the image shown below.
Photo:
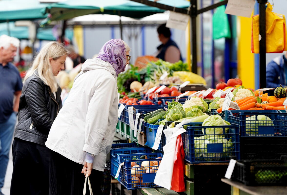
M274 58L266 67L266 87L276 88L287 85L287 52Z

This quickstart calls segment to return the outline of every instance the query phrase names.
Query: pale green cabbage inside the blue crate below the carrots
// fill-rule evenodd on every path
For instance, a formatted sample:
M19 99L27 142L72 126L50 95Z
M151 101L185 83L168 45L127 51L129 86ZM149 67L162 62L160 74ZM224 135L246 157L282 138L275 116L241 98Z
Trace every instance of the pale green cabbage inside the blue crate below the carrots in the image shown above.
M274 126L271 118L265 115L250 116L246 118L246 134L258 134L258 126Z

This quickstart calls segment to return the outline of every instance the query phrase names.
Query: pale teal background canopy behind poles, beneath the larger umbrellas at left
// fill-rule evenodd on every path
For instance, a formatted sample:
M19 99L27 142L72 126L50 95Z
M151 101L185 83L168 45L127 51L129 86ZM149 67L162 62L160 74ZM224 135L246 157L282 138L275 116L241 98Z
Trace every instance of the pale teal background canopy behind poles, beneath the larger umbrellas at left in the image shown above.
M8 33L8 24L9 24L9 33ZM28 39L29 31L26 26L15 26L14 22L1 23L0 24L0 36L6 34L9 36L16 37L18 39ZM73 29L67 28L65 30L65 36L72 40L73 38ZM55 41L56 37L53 35L52 28L38 28L37 39L39 40L50 40Z

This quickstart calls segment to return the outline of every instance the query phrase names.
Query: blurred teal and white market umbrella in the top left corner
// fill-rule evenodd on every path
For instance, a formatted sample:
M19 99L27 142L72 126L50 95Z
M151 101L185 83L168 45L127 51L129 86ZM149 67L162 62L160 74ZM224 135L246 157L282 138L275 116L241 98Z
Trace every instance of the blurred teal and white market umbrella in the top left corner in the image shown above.
M46 18L47 14L41 12L46 5L38 0L1 0L0 22Z

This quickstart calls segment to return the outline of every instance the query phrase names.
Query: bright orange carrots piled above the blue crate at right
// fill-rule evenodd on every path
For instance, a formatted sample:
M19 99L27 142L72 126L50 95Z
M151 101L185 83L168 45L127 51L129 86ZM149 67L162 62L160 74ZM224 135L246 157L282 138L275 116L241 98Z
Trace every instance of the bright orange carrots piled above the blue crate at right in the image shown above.
M235 101L233 101L235 102ZM284 110L283 102L272 102L268 104L259 104L254 96L249 96L236 100L240 110ZM234 110L229 108L229 110ZM222 107L216 110L218 113L222 112Z

